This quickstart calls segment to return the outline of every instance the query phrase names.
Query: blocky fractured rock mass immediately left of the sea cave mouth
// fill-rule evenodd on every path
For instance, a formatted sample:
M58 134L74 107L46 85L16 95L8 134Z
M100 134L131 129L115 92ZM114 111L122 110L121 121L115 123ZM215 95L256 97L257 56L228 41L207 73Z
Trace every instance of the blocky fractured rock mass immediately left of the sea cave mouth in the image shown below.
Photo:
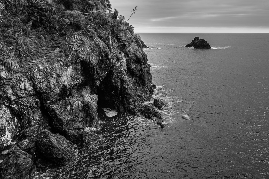
M91 95L90 89L72 89L66 97L58 101L48 101L45 108L53 119L53 126L61 131L84 129L98 126L97 95Z

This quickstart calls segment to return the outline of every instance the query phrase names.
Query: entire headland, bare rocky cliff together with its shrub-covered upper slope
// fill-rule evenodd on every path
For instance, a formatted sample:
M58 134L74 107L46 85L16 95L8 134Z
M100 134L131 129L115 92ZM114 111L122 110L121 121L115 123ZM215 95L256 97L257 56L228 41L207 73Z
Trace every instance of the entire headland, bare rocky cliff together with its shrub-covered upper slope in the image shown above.
M0 3L0 178L31 178L90 148L97 108L164 127L155 110L164 104L144 103L156 86L132 25L117 10L79 13L111 9L109 1Z

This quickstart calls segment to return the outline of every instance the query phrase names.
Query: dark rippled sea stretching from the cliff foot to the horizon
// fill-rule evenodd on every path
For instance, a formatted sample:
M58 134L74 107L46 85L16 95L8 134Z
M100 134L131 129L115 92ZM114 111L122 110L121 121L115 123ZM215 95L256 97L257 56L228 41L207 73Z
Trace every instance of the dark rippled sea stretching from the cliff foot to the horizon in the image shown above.
M139 35L165 128L99 109L93 147L35 178L269 178L269 33Z

